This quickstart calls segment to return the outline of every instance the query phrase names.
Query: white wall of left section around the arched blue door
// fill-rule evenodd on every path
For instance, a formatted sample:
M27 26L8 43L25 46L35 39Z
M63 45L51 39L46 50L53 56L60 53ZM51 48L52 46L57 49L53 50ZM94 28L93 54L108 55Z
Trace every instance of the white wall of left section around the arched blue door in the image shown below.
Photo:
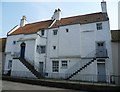
M14 53L20 54L20 45L22 42L26 44L25 47L25 58L27 58L31 63L34 62L34 52L35 52L35 39L36 34L30 34L30 35L12 35L7 37L7 43L6 43L6 59L5 59L5 72L8 70L8 62L9 60L12 60L12 76L20 75L20 76L27 76L24 75L23 71L30 72L28 69L17 59L13 59ZM13 44L13 41L15 41L15 44ZM17 71L17 72L16 72ZM20 72L22 72L20 74ZM31 73L30 73L31 74ZM32 75L31 75L32 77Z

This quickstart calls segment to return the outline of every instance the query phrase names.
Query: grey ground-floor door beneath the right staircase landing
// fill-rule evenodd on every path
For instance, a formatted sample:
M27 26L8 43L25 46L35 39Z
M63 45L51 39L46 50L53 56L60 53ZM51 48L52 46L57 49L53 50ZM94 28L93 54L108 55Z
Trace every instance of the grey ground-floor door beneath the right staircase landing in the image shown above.
M98 82L106 82L105 63L97 63Z

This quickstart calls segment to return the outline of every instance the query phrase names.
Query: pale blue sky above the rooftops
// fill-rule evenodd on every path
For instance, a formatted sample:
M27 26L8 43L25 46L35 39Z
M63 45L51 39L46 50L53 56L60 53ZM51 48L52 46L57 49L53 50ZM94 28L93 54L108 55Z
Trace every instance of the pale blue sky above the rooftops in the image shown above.
M25 2L24 2L25 1ZM102 0L2 0L0 3L0 37L6 37L14 26L20 25L23 15L28 23L51 19L55 9L61 9L61 17L101 12ZM118 29L118 1L106 0L110 29Z

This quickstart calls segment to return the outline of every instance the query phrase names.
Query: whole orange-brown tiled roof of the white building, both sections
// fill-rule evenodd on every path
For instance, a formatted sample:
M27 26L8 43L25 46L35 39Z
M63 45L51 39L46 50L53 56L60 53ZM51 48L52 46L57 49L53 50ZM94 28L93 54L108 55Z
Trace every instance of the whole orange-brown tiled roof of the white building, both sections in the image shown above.
M65 26L65 25L72 25L72 24L87 24L87 23L107 21L107 20L109 19L106 16L106 13L98 12L98 13L92 13L86 15L61 18L61 20L56 21L51 28ZM25 26L18 28L9 35L35 33L39 29L47 29L52 24L52 22L53 22L52 20L46 20L46 21L26 24Z

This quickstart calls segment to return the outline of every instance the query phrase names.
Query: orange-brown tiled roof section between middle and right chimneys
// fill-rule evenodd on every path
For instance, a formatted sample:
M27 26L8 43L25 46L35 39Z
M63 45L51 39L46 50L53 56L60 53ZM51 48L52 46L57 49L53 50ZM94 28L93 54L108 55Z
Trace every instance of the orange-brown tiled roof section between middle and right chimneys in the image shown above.
M93 22L107 21L109 20L106 13L98 12L86 15L79 15L73 17L62 18L57 21L52 27L59 27L71 24L88 24Z

